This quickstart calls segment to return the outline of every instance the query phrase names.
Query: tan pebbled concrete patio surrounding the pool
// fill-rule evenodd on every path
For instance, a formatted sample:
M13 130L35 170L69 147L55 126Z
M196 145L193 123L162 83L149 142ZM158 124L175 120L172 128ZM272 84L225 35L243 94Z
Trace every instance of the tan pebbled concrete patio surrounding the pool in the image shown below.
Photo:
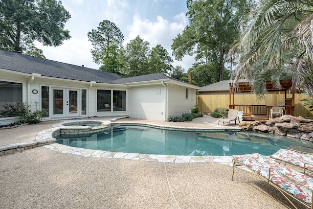
M0 146L34 140L38 133L59 122L45 121L0 129ZM172 124L214 127L215 122L215 118L205 116L202 120L197 118L193 122ZM0 156L0 208L291 207L265 181L237 170L234 181L231 181L232 167L221 163L158 163L82 157L37 147ZM302 207L299 204L297 206Z

